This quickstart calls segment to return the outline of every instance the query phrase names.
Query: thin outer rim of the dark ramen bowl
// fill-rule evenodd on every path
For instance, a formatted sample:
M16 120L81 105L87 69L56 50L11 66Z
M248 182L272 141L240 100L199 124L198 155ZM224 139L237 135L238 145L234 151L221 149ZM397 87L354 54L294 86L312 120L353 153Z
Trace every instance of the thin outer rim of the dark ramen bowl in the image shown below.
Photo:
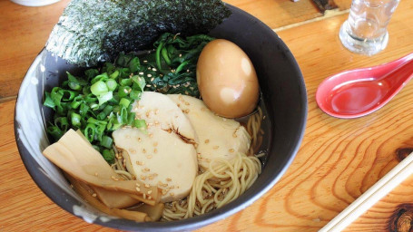
M279 45L283 48L286 49L287 51L290 51L290 49L287 47L287 45L280 39L278 34L276 34L270 27L264 23L261 22L258 18L252 16L251 14L241 10L240 8L230 5L230 4L225 4L228 8L231 9L232 14L241 14L243 17L247 17L248 19L255 21L257 24L259 24L263 30L268 31L268 34L270 36L274 37L274 40L279 41ZM46 53L47 51L45 48L37 54L36 58L34 59L34 62L31 63L28 71L25 73L25 77L23 79L23 82L25 81L26 78L28 78L28 73L31 72L31 69L34 68L34 64L39 61L40 56L42 53ZM291 65L295 70L298 71L298 74L300 75L300 92L302 93L300 95L300 102L301 104L301 120L300 124L298 125L298 130L300 131L300 134L298 134L295 137L295 140L292 140L292 144L295 144L292 152L290 153L290 157L286 158L285 164L283 165L282 169L280 169L280 172L278 172L276 175L273 175L270 184L261 188L256 194L252 195L251 198L248 198L247 200L239 203L237 206L225 210L219 210L214 209L211 211L209 214L205 214L202 216L197 216L194 218L187 218L184 220L178 220L178 221L172 221L172 222L144 222L144 223L138 223L138 222L133 222L133 224L114 224L113 223L105 223L102 220L94 220L93 224L97 224L103 227L113 227L113 228L120 228L120 229L127 229L127 230L135 230L135 229L143 229L145 231L182 231L182 230L192 230L200 227L205 227L207 225L210 225L211 223L217 222L223 218L228 218L231 215L241 211L244 208L247 208L251 206L253 202L255 202L258 198L261 198L262 195L264 195L266 192L268 192L271 188L274 187L274 185L279 181L279 179L285 174L286 170L290 168L290 164L292 160L296 157L296 154L298 150L300 149L300 144L304 136L305 128L306 128L306 123L307 123L307 116L308 116L308 102L307 102L307 90L305 87L305 82L304 78L302 76L302 73L300 71L300 66L298 65L297 61L295 60L294 56L292 53L286 53L288 56L287 59L290 60ZM21 90L21 89L20 89ZM59 206L60 208L63 208L65 211L69 212L71 215L84 219L76 214L74 214L74 210L72 206L69 206L67 204L67 200L65 198L62 198L60 195L56 195L56 192L61 192L64 191L61 189L58 185L48 185L48 183L44 183L40 173L38 173L38 169L34 166L38 166L37 163L35 163L33 160L30 159L31 154L30 152L25 148L25 145L23 144L22 140L19 140L19 132L18 132L18 121L16 120L16 111L18 108L18 102L23 101L19 96L20 96L20 90L17 94L17 99L15 103L15 119L14 119L14 127L15 127L15 141L17 144L17 149L19 151L20 157L23 160L23 163L25 165L25 169L27 169L28 173L34 179L34 183L38 186L39 189L42 189L44 194L52 199L54 203ZM31 165L34 163L35 165ZM76 200L76 199L74 199ZM79 204L83 204L83 202L79 202ZM231 203L230 203L231 204ZM228 205L227 205L228 206ZM123 219L125 220L125 219ZM122 222L122 220L119 220ZM130 221L130 220L126 220Z

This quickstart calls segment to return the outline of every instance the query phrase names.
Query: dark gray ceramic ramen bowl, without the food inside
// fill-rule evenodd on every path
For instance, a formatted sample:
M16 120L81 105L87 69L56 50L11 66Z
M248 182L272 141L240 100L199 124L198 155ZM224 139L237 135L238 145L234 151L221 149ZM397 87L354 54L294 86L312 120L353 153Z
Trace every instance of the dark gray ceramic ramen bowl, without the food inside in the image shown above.
M15 138L25 168L44 193L64 210L85 221L123 230L182 231L204 227L247 208L271 189L288 169L300 147L307 119L305 84L289 48L267 25L240 9L228 5L233 14L211 35L237 43L250 56L259 76L262 99L268 111L265 146L268 158L260 177L240 198L200 217L174 222L137 223L110 218L88 206L69 184L60 169L42 155L49 141L45 121L51 111L44 108L44 91L62 82L65 71L81 69L42 51L22 82L15 106Z

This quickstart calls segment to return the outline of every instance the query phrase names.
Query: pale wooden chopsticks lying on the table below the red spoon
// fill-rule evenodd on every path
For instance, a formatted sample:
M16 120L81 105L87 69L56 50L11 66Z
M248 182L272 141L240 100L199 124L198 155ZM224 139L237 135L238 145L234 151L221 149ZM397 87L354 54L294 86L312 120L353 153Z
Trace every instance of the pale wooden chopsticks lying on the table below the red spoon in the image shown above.
M359 218L364 212L371 208L381 198L396 188L403 180L413 173L413 152L402 160L396 167L391 169L382 179L374 184L370 189L357 198L349 207L339 213L329 223L322 227L320 232L341 231L348 227L355 219Z

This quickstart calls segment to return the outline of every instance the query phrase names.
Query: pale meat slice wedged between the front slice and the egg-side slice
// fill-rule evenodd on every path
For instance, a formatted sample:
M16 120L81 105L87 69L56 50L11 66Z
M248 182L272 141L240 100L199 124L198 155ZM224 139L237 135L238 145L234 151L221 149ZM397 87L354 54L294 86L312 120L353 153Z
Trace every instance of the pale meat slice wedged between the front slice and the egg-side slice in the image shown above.
M159 92L143 92L141 100L133 102L133 112L137 118L146 121L149 127L160 127L173 131L190 143L196 143L196 133L191 122L168 96Z

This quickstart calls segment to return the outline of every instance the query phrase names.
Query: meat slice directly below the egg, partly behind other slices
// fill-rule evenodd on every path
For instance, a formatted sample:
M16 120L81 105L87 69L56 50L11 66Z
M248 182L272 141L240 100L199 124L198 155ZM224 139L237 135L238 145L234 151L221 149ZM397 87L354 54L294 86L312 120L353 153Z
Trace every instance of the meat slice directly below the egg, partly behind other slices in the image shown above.
M197 152L203 169L208 169L212 159L231 160L237 152L247 154L251 137L240 122L217 116L197 98L181 94L168 96L185 112L197 133Z

